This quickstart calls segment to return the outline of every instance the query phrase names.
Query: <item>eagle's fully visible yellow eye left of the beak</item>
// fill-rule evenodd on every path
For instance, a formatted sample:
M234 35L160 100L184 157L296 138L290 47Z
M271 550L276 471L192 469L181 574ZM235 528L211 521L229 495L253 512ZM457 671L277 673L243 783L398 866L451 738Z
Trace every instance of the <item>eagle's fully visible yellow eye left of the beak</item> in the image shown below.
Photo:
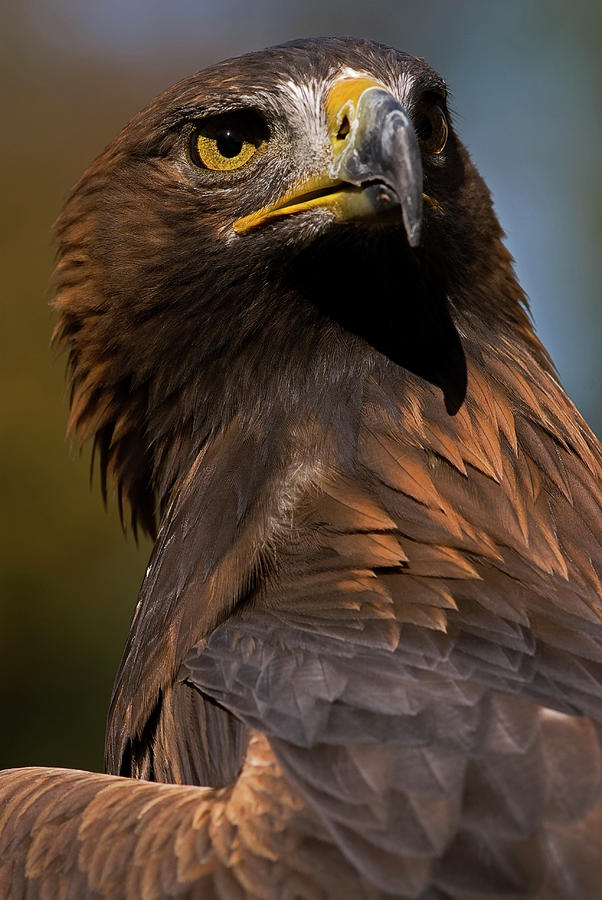
M240 169L267 139L266 126L251 110L203 119L190 137L190 158L200 169L231 172Z

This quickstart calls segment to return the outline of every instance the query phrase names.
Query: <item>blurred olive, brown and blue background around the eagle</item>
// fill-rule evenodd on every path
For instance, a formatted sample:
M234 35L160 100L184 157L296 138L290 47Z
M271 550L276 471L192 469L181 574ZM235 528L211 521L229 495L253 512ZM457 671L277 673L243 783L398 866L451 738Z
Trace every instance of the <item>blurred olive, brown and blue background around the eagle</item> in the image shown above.
M226 56L335 34L424 56L451 86L538 333L600 434L601 24L590 0L3 3L0 768L101 769L150 550L124 539L89 454L64 439L50 232L84 168L155 94Z

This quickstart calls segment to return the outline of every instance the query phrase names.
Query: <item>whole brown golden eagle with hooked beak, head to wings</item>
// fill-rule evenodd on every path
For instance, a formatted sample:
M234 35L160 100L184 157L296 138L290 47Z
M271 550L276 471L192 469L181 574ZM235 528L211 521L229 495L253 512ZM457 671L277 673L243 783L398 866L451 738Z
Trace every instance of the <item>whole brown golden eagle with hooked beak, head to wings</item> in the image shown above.
M74 188L71 428L157 539L107 774L0 773L0 896L599 896L602 456L446 98L293 42Z

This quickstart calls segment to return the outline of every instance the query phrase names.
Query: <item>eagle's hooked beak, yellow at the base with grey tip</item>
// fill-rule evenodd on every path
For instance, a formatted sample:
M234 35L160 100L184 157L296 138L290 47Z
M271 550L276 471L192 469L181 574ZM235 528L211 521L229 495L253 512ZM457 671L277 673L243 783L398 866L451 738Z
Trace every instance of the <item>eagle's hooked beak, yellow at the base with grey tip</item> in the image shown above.
M369 78L342 78L326 100L331 146L326 171L275 203L234 223L245 234L283 216L327 209L337 222L400 214L408 243L420 242L422 162L414 126L401 104Z

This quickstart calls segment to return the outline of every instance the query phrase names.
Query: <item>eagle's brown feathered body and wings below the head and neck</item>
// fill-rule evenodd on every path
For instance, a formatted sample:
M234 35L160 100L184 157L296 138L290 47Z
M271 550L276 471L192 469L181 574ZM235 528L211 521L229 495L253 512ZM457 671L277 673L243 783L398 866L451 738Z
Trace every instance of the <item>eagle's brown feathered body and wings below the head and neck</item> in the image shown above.
M15 896L591 887L599 452L551 376L487 365L455 417L368 379L354 427L216 437L166 515L109 736L113 768L176 784L4 776ZM181 784L205 779L229 786Z

